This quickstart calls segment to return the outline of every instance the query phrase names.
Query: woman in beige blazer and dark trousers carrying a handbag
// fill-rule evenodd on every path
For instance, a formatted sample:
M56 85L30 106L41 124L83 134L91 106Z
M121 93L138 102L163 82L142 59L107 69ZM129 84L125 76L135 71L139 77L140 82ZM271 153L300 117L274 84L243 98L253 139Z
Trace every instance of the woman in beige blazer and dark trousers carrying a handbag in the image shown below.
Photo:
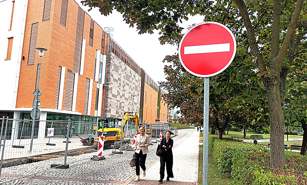
M145 128L140 128L140 133L136 135L136 141L134 144L134 155L135 155L135 170L137 177L134 181L140 180L140 166L143 169L143 176L146 175L146 157L148 153L148 146L150 144L150 137L145 134Z

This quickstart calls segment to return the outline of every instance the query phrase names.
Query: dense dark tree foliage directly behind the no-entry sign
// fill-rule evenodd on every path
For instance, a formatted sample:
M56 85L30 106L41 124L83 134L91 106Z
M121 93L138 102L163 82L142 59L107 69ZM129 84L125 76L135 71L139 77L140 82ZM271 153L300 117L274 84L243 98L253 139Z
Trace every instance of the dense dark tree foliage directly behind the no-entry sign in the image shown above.
M258 125L267 110L263 86L259 83L256 64L250 63L246 50L238 46L238 54L224 73L210 79L209 124L218 130L219 138L238 112L245 114L245 125ZM168 91L163 95L168 105L180 107L187 123L203 123L204 80L188 73L178 55L166 56L166 81L160 85Z

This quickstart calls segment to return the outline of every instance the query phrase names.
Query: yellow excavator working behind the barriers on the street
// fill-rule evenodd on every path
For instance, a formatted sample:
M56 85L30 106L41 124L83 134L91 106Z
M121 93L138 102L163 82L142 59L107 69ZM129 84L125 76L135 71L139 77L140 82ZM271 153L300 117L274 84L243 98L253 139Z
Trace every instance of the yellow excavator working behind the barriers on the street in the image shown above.
M98 119L97 141L99 136L104 136L104 148L114 145L115 140L120 141L122 133L122 144L129 143L130 139L124 139L124 131L126 125L135 125L137 133L139 133L138 115L137 112L125 112L121 120L121 125L118 125L118 120L112 117ZM94 144L94 148L98 148L98 142Z

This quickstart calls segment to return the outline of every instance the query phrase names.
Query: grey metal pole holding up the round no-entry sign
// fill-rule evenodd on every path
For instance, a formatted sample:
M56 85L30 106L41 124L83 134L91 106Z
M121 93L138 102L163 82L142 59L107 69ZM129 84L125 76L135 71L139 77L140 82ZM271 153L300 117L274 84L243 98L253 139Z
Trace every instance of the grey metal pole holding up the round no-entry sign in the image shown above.
M209 147L209 82L210 77L204 81L204 145L203 145L203 185L208 185L208 147Z

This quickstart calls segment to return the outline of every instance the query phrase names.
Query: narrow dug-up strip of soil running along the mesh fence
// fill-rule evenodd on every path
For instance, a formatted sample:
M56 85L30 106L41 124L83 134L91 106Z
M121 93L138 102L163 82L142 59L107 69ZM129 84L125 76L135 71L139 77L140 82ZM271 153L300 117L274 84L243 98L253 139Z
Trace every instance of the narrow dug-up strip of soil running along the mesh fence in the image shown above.
M81 155L84 153L92 153L97 151L94 147L87 147L87 148L78 148L67 151L67 156L76 156ZM53 153L46 153L43 155L65 155L65 151L53 152ZM41 155L35 155L31 157L41 157ZM29 160L27 157L17 158L17 159L6 159L2 162L2 167L10 167L10 166L17 166L23 165L28 163L38 162L39 160Z

